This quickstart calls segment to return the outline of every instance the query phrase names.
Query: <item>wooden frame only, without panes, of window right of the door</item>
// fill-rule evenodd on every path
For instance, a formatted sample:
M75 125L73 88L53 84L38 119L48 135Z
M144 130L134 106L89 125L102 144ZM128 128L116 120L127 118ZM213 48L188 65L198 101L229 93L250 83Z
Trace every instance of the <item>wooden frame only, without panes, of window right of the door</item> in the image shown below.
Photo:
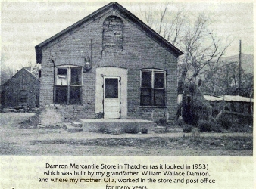
M142 86L142 73L143 72L150 72L151 73L151 87L143 87ZM163 73L164 75L164 83L162 88L155 88L155 73ZM150 103L149 104L143 104L142 103L142 90L147 89L150 91ZM164 91L164 104L159 105L155 101L155 91ZM160 70L160 69L142 69L140 70L140 107L166 107L166 70Z

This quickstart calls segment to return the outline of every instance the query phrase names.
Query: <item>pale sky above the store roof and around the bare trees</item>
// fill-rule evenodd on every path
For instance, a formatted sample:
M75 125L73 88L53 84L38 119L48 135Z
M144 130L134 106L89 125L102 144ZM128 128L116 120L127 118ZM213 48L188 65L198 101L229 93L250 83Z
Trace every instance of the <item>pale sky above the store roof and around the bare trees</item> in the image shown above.
M167 1L164 1L165 3ZM192 14L214 14L212 28L217 36L233 40L225 56L254 53L254 24L252 1L170 2L173 8L185 6ZM119 2L136 14L141 2ZM152 2L149 2L152 3ZM2 2L1 3L1 71L20 70L36 63L35 46L83 19L108 2ZM143 4L144 5L144 4ZM148 3L145 6L149 5ZM137 17L139 17L136 14ZM139 17L140 18L140 17ZM142 19L142 18L141 18Z

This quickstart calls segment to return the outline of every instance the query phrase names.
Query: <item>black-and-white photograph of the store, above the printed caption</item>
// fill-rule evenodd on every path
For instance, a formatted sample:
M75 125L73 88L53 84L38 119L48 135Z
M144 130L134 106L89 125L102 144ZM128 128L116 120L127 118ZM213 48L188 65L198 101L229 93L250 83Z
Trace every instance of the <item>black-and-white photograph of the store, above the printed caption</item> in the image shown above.
M253 156L252 1L2 1L0 69L0 156Z

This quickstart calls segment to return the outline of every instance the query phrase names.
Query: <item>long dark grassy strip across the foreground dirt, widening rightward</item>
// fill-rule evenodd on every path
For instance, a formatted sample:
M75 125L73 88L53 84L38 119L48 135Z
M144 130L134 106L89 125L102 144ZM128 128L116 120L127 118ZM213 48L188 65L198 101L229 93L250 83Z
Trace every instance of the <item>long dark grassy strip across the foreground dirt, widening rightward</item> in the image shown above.
M105 138L93 140L43 140L33 144L70 144L103 147L162 147L173 150L185 148L202 150L252 150L252 137L180 137L180 138Z

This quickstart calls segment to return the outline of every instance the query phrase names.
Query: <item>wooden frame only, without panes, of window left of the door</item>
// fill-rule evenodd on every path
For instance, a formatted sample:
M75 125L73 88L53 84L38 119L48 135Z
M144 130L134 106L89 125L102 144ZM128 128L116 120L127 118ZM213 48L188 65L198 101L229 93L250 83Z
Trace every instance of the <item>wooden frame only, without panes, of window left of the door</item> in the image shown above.
M78 68L80 69L80 84L71 84L71 70ZM61 85L58 83L60 80L58 80L58 76L61 76L61 74L58 74L58 69L67 69L67 81L64 80L64 85L62 85L62 80L61 80ZM63 75L64 76L64 75ZM59 104L59 105L80 105L82 104L82 86L83 86L83 67L79 66L73 66L73 65L61 65L55 67L55 88L54 88L54 104ZM61 87L66 87L67 90L67 99L63 102L57 101L57 88ZM80 88L80 101L79 103L72 103L71 102L71 88L79 87Z

